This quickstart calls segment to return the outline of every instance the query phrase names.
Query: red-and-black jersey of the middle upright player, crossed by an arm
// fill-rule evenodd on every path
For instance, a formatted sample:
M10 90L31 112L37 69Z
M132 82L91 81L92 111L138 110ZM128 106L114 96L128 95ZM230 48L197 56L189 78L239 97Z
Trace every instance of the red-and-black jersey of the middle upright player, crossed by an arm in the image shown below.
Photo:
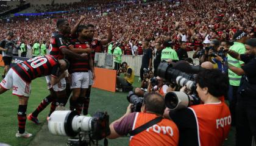
M90 45L88 44L88 41L80 42L77 39L71 40L70 44L72 44L75 49L76 48L87 49L88 47L90 47ZM88 55L91 55L91 54L88 54ZM73 72L88 72L88 70L90 69L89 57L83 58L83 59L70 58L69 61L70 61L71 65L70 65L68 71L70 73L73 73Z

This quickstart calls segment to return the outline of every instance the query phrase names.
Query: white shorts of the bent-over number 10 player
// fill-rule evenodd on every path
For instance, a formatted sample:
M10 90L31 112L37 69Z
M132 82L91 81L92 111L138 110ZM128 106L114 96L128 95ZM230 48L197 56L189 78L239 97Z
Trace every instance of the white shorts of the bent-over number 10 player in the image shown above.
M13 95L26 97L30 96L30 83L24 82L24 80L12 68L10 68L0 85L4 89L12 88Z

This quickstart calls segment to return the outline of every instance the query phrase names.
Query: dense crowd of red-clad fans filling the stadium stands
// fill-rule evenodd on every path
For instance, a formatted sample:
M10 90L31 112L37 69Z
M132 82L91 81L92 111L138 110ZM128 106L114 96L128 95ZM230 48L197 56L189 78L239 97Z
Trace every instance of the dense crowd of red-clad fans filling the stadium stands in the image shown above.
M135 41L138 46L139 40L144 37L152 40L151 45L154 46L155 41L169 36L177 40L176 47L179 47L180 41L187 41L188 50L196 50L196 47L193 47L194 44L201 45L208 39L205 38L208 35L212 39L232 40L233 34L238 29L246 30L247 33L254 32L255 9L251 3L251 1L202 1L200 3L163 1L149 4L123 2L119 4L119 9L112 7L105 16L106 9L102 7L108 3L102 4L98 1L99 7L94 6L95 10L91 11L82 9L51 16L20 16L10 19L9 22L0 24L1 28L4 28L0 30L0 36L4 38L5 33L12 28L16 38L20 38L20 41L29 46L33 46L37 40L46 41L49 45L49 37L55 30L57 18L68 19L72 26L78 21L80 15L85 15L86 21L96 26L97 38L105 37L104 24L109 19L113 25L113 41L124 44L122 49L129 44L128 41ZM72 9L80 9L84 6L79 5ZM49 11L55 11L55 5L49 6Z

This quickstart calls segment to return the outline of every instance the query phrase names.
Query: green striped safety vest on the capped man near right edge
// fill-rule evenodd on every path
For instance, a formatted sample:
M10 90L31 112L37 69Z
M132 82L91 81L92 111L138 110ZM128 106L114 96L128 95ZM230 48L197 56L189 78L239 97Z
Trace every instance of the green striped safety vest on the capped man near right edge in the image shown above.
M246 52L244 44L239 42L234 42L233 46L231 46L229 49L237 52L238 54L245 54ZM227 62L236 68L241 68L241 64L244 64L243 61L237 60L231 57L229 54L227 55ZM235 74L235 72L232 72L229 69L229 85L239 86L241 77L242 76Z

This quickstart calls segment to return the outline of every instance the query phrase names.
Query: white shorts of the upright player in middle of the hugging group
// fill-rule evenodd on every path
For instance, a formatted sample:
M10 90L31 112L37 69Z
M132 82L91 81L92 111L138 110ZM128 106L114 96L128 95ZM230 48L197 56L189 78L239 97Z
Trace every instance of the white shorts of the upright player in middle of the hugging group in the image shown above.
M89 73L88 72L74 72L71 74L70 88L88 88L89 87Z

